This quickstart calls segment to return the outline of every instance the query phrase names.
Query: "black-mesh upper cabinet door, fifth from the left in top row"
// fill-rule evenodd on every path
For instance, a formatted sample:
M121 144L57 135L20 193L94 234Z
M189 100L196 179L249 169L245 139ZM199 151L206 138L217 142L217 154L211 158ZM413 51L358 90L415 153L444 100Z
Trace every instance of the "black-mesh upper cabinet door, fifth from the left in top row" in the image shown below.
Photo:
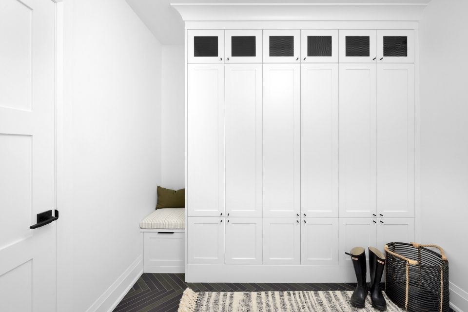
M340 63L374 63L375 30L340 30Z

